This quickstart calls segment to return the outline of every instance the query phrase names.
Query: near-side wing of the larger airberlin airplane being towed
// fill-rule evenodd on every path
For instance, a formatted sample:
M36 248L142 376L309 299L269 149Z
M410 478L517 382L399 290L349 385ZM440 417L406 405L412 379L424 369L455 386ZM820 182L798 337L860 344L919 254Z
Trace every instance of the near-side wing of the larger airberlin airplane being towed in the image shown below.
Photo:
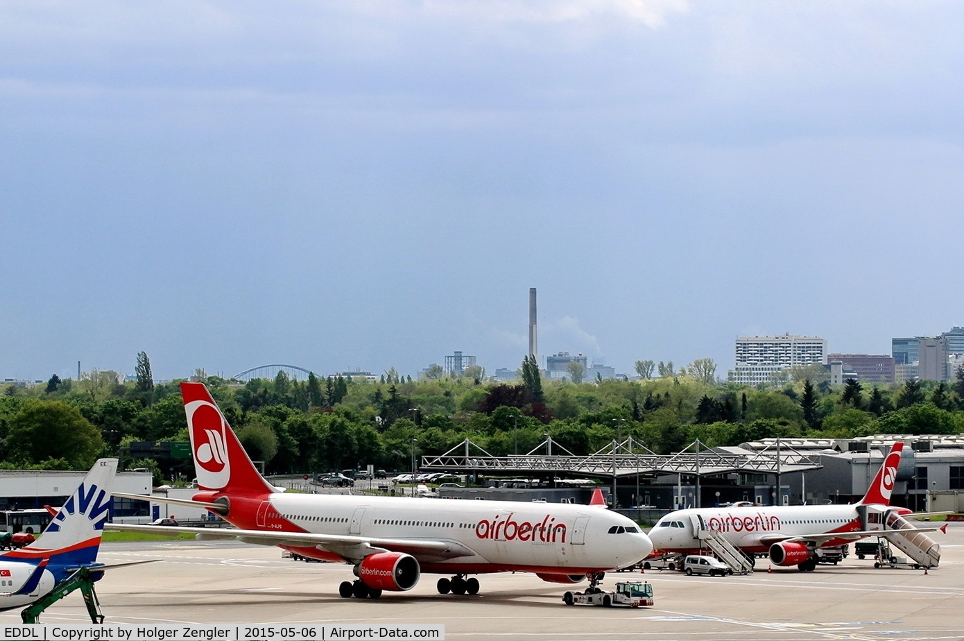
M128 525L105 523L104 529L149 534L194 534L201 541L236 539L257 546L287 546L290 548L316 547L341 556L346 561L358 562L375 552L404 552L420 562L441 561L460 556L475 556L475 551L455 541L440 539L380 538L351 534L313 534L310 532L277 532L271 530L243 530L228 527L181 527L174 525Z

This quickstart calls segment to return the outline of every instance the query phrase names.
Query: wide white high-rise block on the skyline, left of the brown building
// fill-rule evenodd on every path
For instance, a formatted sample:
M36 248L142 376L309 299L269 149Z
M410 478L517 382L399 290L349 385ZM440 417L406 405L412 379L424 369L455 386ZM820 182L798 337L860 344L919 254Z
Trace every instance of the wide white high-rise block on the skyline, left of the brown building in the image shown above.
M736 339L736 367L727 377L733 383L766 383L793 365L827 364L827 341L817 336L747 336Z

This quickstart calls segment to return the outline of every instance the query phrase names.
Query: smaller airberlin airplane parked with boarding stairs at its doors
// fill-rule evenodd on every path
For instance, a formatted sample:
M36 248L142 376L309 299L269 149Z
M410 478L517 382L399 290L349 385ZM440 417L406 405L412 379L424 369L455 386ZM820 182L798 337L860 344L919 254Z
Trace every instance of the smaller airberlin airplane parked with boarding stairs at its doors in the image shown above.
M856 504L677 510L656 521L650 538L658 552L694 553L707 547L706 533L715 530L751 563L753 554L768 551L774 565L811 572L817 567L817 548L843 546L868 536L906 539L912 533L939 529L914 528L900 516L907 510L890 507L902 449L902 442L891 447L867 494ZM936 565L939 550L930 542L934 561L928 564Z

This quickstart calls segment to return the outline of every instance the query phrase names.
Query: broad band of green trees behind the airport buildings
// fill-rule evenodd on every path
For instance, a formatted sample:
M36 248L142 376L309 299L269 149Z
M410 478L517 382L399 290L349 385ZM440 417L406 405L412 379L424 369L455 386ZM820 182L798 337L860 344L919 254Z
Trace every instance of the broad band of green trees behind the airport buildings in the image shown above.
M491 383L461 376L379 381L308 376L228 381L196 372L239 439L271 473L373 465L404 470L469 438L495 456L524 454L547 435L576 455L629 436L656 453L737 445L772 437L854 438L872 434L964 432L964 368L951 384L907 381L831 387L825 371L800 368L775 387L716 381L709 360L637 381L544 379L535 359L520 379ZM187 441L177 382L155 385L147 355L137 378L90 372L46 387L8 386L0 395L0 467L83 469L136 441ZM388 374L388 372L387 372ZM437 373L436 373L437 374ZM651 372L652 374L652 372ZM558 450L554 450L558 451ZM124 461L130 467L155 462ZM190 461L178 471L192 474Z

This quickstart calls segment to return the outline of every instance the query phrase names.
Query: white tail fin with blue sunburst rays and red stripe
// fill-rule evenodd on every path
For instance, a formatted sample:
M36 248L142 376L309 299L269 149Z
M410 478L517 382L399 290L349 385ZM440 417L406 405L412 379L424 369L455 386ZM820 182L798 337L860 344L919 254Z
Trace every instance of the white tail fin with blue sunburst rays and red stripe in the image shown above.
M3 554L4 558L56 565L94 563L104 522L110 516L117 459L99 459L34 543Z

